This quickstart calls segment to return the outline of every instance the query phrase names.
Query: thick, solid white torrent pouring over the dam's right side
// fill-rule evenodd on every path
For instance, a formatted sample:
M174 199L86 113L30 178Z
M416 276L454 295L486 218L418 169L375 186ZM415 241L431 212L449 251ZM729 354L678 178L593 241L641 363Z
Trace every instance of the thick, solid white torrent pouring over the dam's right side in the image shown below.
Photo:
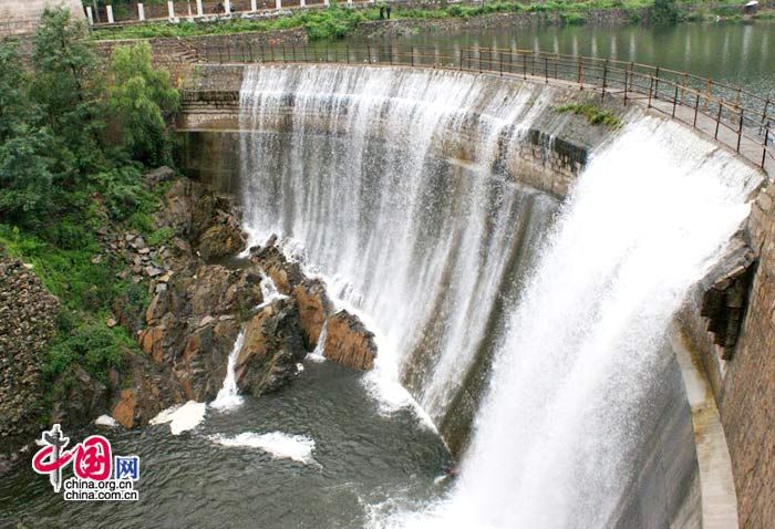
M613 527L666 330L747 215L755 172L642 118L598 153L513 312L451 496L380 527ZM660 413L660 411L655 411ZM670 478L668 478L670 479Z

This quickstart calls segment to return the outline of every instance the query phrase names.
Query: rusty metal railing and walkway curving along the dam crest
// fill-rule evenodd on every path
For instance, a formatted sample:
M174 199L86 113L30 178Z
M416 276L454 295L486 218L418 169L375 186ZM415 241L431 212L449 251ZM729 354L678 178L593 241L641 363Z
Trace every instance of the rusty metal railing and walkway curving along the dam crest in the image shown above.
M560 82L639 101L661 114L702 131L765 172L775 165L775 102L742 87L686 72L636 62L530 50L405 44L257 45L235 38L198 50L210 63L347 63L402 65Z

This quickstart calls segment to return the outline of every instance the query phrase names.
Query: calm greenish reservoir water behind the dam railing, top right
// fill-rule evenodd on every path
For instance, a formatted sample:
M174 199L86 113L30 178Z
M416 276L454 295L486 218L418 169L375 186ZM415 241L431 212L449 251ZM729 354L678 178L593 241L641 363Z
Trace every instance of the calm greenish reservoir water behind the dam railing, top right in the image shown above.
M641 64L710 77L775 98L775 21L689 23L672 28L520 28L426 32L406 44L514 48Z

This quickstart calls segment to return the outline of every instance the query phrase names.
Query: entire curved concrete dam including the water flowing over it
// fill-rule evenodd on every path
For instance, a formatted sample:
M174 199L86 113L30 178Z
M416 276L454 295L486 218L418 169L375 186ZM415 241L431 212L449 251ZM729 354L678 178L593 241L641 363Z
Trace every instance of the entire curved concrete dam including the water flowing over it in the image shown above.
M363 64L187 81L184 169L366 322L379 413L413 406L459 461L369 527L737 527L714 373L762 326L724 300L760 284L766 176L639 105L558 112L599 97Z

